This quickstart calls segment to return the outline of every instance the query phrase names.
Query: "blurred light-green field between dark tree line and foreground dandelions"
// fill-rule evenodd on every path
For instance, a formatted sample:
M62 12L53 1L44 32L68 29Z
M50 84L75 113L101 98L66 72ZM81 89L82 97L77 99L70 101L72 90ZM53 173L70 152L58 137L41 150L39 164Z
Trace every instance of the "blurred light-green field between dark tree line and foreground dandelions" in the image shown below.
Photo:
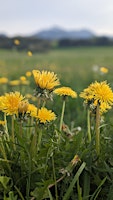
M59 74L62 81L77 88L89 84L95 77L92 67L109 69L107 79L112 81L113 47L85 47L51 50L28 57L26 52L0 51L0 74L16 79L28 70L51 70Z

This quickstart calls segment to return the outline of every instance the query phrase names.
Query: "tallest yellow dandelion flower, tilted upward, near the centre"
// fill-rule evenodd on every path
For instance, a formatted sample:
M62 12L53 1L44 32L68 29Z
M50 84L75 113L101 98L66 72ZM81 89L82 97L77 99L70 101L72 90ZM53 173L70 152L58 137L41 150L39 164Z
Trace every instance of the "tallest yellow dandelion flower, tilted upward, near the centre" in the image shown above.
M53 90L55 86L60 84L54 72L33 70L33 76L37 87L41 89Z

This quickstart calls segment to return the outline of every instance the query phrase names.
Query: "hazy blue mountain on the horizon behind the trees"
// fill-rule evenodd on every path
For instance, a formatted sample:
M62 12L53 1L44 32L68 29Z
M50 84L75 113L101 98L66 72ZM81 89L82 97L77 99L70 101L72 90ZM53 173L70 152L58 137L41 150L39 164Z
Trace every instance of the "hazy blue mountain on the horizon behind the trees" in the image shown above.
M64 29L53 27L47 30L32 35L35 38L47 39L47 40L59 40L59 39L90 39L95 36L92 31L81 29L66 31Z

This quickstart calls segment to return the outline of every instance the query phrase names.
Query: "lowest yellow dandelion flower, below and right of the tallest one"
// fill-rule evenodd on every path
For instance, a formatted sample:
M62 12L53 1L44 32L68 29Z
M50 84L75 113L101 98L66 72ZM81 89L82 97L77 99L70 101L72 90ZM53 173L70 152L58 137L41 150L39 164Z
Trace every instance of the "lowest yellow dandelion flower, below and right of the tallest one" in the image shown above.
M56 119L56 115L51 110L47 110L46 108L42 107L38 110L38 119L40 123L45 124L46 122L50 122Z

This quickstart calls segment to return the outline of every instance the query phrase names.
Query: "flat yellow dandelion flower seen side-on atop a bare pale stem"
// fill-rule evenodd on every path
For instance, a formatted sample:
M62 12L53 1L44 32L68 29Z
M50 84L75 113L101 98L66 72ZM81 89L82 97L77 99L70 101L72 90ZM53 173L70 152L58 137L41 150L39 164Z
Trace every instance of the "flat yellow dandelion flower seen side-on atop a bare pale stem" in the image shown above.
M75 91L73 91L70 87L57 88L54 90L54 93L58 94L60 96L70 96L72 98L77 97L77 93Z

